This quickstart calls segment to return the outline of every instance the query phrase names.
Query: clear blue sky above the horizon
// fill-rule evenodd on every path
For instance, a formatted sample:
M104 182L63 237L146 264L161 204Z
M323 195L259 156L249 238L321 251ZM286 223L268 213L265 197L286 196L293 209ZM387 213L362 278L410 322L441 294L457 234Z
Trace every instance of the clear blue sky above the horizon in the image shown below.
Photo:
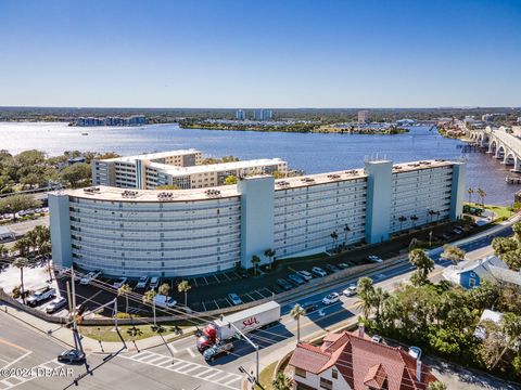
M521 0L0 0L0 106L521 106Z

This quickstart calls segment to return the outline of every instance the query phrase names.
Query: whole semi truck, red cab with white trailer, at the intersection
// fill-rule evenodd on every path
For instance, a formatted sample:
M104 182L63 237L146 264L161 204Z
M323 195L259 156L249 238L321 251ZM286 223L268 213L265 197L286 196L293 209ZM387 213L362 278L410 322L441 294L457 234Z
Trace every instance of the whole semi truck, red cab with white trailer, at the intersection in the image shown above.
M236 336L237 330L230 324L233 324L243 334L252 330L267 327L280 320L280 304L269 301L251 309L221 316L206 325L206 327L196 333L198 350L204 352L218 341L225 341Z

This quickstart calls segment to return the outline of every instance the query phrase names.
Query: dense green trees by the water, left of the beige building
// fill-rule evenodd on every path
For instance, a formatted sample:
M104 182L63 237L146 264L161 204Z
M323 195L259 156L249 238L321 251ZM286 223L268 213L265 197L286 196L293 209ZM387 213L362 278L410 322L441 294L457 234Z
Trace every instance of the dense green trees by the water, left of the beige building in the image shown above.
M45 152L36 150L17 155L0 151L0 194L47 187L50 182L73 187L88 185L91 177L90 161L93 158L116 156L115 153L74 151L49 157ZM68 161L77 157L85 158L85 162Z

